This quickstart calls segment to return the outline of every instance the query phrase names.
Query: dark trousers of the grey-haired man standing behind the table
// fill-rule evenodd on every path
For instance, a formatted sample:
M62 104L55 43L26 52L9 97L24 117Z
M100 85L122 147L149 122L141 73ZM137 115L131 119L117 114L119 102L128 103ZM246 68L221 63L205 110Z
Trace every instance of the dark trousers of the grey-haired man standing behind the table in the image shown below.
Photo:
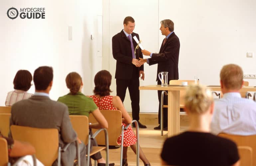
M169 84L168 80L168 84ZM157 79L157 85L161 85L161 81L159 79ZM168 93L168 91L167 91ZM161 124L161 94L162 91L157 91L158 94L158 101L159 101L159 108L158 108L158 123ZM164 105L168 105L168 96L164 95ZM168 125L168 108L164 108L163 110L163 126L167 127Z

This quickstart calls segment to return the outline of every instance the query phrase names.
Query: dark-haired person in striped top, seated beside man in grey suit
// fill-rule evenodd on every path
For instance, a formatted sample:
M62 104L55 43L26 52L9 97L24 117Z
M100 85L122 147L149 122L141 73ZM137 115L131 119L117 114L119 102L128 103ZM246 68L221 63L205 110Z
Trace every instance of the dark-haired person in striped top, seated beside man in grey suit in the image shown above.
M14 91L8 92L5 106L12 106L14 103L30 98L33 94L27 91L31 87L32 75L28 70L19 70L13 80Z

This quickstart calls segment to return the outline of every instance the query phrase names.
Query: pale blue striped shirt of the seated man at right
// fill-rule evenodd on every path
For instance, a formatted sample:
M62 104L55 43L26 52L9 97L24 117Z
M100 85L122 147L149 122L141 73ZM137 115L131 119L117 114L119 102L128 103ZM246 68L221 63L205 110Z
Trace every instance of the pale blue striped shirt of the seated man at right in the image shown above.
M240 93L225 93L215 101L211 132L235 135L256 134L256 102Z

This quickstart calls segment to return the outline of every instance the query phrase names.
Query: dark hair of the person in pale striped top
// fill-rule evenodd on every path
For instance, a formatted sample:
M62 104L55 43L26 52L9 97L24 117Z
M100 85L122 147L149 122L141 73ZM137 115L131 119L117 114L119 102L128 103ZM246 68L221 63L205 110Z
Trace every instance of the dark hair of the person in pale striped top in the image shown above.
M31 87L32 74L28 70L17 71L13 85L14 89L28 91Z

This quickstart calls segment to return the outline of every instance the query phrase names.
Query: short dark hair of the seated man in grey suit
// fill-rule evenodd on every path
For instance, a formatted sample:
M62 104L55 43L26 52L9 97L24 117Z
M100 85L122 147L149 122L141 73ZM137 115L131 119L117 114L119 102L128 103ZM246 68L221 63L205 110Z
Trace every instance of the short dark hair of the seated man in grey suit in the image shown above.
M46 90L53 80L53 68L49 66L37 68L34 72L33 80L36 90Z

